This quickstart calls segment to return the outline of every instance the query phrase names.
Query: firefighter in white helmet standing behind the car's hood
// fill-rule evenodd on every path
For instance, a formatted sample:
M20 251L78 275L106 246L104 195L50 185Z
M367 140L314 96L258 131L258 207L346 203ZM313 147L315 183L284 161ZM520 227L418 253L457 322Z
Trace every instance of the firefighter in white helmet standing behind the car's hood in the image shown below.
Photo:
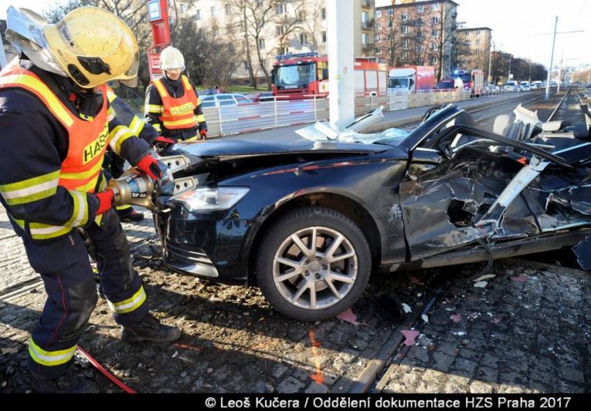
M160 54L161 79L146 90L146 122L166 139L192 141L207 137L207 123L195 85L183 74L185 59L175 47Z

